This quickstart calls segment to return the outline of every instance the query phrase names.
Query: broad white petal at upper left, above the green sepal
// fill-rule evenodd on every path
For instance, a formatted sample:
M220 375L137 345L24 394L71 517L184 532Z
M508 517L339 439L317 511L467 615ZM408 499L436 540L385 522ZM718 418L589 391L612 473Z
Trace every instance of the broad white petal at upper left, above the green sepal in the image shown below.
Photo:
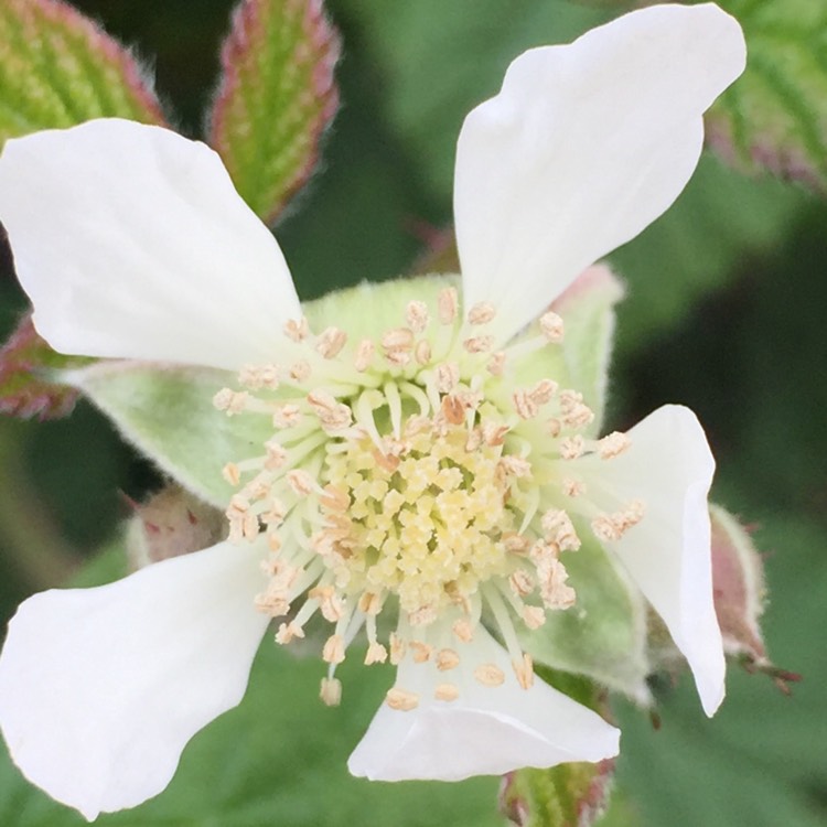
M94 120L7 142L0 221L34 323L62 353L237 368L300 315L270 232L218 155Z

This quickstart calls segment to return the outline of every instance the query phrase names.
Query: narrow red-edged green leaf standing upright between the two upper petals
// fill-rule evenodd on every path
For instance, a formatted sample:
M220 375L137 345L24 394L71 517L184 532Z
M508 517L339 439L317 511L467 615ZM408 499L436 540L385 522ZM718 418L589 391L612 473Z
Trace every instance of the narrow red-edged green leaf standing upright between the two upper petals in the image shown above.
M244 0L236 10L208 140L241 197L267 222L318 163L339 106L339 53L321 0Z

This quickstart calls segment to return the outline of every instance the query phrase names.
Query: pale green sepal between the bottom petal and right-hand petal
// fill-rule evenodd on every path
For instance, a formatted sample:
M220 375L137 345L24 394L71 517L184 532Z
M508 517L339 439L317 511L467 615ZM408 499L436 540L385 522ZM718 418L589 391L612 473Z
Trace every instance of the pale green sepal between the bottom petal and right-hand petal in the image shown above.
M588 676L646 706L645 601L602 546L581 536L580 549L561 557L577 602L548 612L543 626L524 632L520 642L536 664Z

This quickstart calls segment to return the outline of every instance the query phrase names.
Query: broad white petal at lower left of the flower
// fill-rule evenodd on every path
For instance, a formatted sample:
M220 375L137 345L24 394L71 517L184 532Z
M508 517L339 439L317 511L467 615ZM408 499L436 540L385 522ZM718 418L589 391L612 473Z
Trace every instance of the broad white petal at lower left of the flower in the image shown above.
M89 820L162 791L244 695L267 626L260 557L221 544L26 600L0 657L0 727L29 781Z

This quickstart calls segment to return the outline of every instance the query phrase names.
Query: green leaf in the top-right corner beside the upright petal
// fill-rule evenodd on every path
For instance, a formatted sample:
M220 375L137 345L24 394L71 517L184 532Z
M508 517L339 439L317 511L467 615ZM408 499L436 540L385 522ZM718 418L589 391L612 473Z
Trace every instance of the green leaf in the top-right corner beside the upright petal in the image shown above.
M827 6L813 0L723 0L741 23L743 76L707 117L711 146L745 170L827 186Z

